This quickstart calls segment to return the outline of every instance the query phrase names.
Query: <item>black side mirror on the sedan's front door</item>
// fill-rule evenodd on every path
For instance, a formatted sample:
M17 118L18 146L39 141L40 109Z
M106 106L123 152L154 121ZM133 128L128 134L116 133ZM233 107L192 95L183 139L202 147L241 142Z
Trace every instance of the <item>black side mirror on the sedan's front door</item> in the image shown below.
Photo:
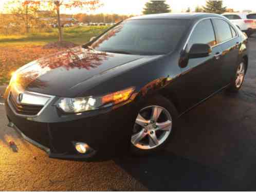
M194 44L189 51L189 58L208 57L212 49L207 44Z

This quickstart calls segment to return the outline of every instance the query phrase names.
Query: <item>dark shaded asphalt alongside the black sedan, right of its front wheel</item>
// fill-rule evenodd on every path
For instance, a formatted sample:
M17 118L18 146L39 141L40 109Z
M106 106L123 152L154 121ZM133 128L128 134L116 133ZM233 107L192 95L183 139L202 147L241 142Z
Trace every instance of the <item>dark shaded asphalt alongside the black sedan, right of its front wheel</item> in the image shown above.
M255 188L255 100L223 91L179 119L163 153L115 162L149 190Z

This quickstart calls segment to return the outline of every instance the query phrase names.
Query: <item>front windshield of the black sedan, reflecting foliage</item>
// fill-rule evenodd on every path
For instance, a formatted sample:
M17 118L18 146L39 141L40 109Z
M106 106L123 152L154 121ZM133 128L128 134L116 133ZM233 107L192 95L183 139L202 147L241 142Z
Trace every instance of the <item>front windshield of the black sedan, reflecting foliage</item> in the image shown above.
M126 20L98 38L97 51L161 55L173 51L188 26L185 19Z

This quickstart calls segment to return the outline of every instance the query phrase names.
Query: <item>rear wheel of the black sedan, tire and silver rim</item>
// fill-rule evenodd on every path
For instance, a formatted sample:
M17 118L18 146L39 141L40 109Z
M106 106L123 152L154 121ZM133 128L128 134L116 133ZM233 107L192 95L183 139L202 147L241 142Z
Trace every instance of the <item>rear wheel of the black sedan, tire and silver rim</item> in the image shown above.
M229 92L239 92L239 90L243 86L245 74L246 74L246 64L245 64L245 61L243 60L243 62L241 62L237 66L234 77L233 77L233 79L230 83L230 86L227 90ZM240 80L237 79L237 78L239 78L239 75L240 75Z

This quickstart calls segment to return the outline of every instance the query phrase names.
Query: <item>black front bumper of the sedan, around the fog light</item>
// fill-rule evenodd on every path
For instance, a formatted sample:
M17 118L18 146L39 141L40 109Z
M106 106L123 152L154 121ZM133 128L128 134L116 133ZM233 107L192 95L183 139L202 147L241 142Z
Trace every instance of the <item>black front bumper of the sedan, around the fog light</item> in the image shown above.
M88 112L76 117L59 114L52 103L35 118L16 115L7 100L5 108L9 126L25 140L46 151L50 158L59 159L89 159L96 155L126 153L136 118L134 102L116 109ZM92 151L79 154L74 142L87 143Z

